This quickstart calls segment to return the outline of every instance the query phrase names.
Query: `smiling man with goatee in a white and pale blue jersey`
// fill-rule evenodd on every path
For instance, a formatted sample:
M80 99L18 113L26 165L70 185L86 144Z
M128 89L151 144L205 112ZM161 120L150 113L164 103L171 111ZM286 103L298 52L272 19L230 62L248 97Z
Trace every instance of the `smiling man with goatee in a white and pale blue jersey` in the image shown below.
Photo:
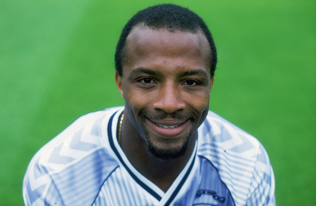
M204 21L163 4L125 25L125 107L84 115L32 159L27 205L275 205L257 139L209 111L216 48Z

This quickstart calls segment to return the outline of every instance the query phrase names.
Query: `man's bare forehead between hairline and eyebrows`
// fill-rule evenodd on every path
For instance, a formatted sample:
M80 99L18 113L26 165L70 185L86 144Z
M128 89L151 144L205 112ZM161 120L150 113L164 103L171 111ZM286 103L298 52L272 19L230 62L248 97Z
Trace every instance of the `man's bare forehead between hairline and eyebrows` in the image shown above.
M126 51L123 73L124 68L143 67L141 64L195 65L210 72L210 46L202 32L170 32L136 26L126 39Z

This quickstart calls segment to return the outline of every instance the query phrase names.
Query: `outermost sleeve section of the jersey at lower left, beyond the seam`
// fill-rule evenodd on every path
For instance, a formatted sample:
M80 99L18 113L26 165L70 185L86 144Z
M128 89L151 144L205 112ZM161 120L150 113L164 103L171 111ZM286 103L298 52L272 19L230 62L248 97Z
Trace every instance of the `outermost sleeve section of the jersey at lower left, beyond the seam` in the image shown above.
M51 176L48 174L49 168L40 165L39 158L33 162L30 163L23 180L25 205L64 205Z

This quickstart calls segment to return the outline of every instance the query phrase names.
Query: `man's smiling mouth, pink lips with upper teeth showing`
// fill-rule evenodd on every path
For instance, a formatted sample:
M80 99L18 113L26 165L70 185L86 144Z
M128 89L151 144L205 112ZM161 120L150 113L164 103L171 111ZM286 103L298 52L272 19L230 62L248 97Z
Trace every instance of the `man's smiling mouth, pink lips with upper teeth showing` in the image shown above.
M172 119L172 120L151 120L147 119L151 129L162 137L176 137L183 133L188 127L190 119Z

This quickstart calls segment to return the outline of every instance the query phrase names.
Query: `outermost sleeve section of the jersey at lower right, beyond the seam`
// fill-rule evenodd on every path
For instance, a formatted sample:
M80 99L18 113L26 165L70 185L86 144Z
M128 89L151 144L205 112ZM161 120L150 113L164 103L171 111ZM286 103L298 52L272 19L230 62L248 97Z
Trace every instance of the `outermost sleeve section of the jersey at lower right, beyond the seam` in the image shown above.
M275 206L275 181L273 169L264 147L260 144L257 161L252 174L247 206Z

